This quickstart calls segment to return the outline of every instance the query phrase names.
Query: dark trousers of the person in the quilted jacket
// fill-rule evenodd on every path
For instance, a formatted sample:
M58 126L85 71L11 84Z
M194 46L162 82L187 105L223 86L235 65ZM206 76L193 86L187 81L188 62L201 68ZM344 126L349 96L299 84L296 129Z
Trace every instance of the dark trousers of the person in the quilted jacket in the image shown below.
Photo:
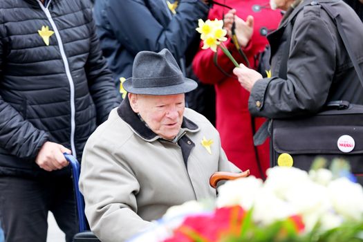
M0 176L0 219L6 242L46 242L48 211L73 241L77 218L71 177Z

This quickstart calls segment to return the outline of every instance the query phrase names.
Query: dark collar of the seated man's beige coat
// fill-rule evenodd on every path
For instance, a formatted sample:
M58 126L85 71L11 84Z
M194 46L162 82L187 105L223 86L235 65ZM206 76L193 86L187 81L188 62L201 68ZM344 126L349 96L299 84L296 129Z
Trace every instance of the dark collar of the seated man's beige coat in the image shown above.
M133 131L144 140L151 142L153 140L161 138L156 133L153 133L153 131L151 131L151 129L149 129L149 127L147 127L145 123L140 120L137 113L133 112L130 106L129 97L126 97L121 102L120 106L118 106L117 111L120 118L122 118L124 122L127 122L131 129L133 129ZM183 117L183 123L181 125L181 128L184 129L184 131L189 131L192 133L199 131L198 125L196 125L191 120L185 118L185 116Z

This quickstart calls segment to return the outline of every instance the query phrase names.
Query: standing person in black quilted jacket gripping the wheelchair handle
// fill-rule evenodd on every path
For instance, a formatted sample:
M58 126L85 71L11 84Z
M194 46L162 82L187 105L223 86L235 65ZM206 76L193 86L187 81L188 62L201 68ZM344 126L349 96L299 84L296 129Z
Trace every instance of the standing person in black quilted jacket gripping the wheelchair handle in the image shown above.
M0 16L5 240L45 242L51 211L71 242L77 218L63 153L81 159L86 140L117 106L91 6L87 0L1 0Z

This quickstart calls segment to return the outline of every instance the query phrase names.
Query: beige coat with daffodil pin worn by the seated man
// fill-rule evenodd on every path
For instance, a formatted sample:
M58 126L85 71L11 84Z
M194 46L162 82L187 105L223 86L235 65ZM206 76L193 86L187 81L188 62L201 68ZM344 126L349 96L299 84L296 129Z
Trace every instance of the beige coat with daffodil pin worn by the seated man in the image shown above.
M215 198L210 176L215 171L239 171L227 160L212 124L191 109L185 109L184 116L197 126L185 129L185 136L195 144L187 168L177 144L143 138L120 118L117 109L89 138L80 190L91 230L102 242L129 239L152 226L149 221L173 205ZM211 153L201 144L203 138L213 141Z

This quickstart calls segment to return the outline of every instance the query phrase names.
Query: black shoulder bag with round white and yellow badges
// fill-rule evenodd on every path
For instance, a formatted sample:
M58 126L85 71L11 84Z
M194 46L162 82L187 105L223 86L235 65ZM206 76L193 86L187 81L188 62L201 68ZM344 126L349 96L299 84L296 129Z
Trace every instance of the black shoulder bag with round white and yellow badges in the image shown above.
M363 75L357 59L348 46L339 13L331 6L319 3L335 21L340 37L353 62L357 76L363 86ZM290 40L289 40L290 41ZM287 48L289 51L289 48ZM288 53L286 55L288 58ZM286 59L287 63L287 59ZM282 64L283 66L283 64ZM281 67L279 74L287 73L287 66ZM335 101L326 104L325 111L307 118L272 120L271 124L271 165L286 162L281 153L292 156L294 167L308 170L316 156L331 162L333 158L344 158L351 164L353 174L363 182L363 105ZM286 156L286 155L284 155ZM281 165L281 164L280 164Z

